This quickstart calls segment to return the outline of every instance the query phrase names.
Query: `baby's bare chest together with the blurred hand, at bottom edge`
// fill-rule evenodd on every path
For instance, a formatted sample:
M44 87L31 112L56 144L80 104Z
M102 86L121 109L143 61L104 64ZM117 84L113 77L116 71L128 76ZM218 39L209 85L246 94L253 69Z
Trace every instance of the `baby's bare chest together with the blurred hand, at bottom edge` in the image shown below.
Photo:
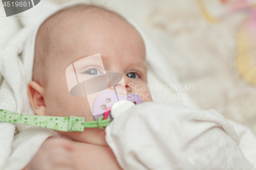
M62 138L48 138L23 170L102 168L121 169L110 148Z

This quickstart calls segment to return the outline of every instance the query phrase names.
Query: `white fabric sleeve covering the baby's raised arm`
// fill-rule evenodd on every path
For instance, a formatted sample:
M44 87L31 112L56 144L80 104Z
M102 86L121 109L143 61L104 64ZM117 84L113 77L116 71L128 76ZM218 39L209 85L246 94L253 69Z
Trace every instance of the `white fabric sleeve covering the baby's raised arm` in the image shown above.
M254 169L238 134L215 110L147 102L120 114L105 132L123 169Z

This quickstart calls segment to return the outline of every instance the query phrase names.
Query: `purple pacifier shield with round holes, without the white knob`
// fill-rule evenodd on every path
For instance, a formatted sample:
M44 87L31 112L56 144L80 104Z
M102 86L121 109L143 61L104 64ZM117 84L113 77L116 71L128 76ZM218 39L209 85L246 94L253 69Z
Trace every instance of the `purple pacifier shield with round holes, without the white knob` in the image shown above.
M104 114L106 108L108 107L111 108L114 103L120 100L129 100L136 105L143 103L142 99L138 94L129 94L126 96L126 95L116 94L112 90L105 90L102 93L100 93L95 100L95 103L93 106L93 116L95 120L98 120L98 118ZM110 117L110 121L112 121L113 117L111 116L111 114L109 114L108 116Z

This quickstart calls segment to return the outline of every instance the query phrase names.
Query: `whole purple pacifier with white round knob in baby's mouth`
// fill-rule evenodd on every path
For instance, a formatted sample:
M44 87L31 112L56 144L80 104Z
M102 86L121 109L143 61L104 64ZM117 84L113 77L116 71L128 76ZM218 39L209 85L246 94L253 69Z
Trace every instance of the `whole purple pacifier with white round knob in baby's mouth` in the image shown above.
M110 109L108 117L112 121L120 113L140 103L143 103L143 101L138 94L133 93L125 96L117 94L113 90L105 90L95 100L93 116L95 120L98 120L106 110Z

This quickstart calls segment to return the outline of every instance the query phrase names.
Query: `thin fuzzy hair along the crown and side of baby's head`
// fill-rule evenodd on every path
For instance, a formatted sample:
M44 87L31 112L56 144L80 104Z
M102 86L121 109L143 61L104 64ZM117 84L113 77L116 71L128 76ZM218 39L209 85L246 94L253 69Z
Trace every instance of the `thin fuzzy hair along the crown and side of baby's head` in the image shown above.
M40 26L36 42L35 42L35 54L34 54L34 66L33 66L33 80L39 83L41 86L45 87L47 85L47 68L49 64L47 63L49 52L52 51L50 44L50 37L52 35L52 29L54 25L56 25L59 20L64 17L63 15L80 13L87 11L88 9L95 9L91 10L91 13L101 15L102 12L107 12L111 16L117 16L119 19L127 22L121 15L118 13L106 9L102 6L96 5L89 5L89 4L79 4L76 6L72 6L69 8L62 9L55 14L51 15L49 18L45 20L44 23ZM101 11L101 12L100 12ZM55 20L54 20L55 18ZM56 19L57 18L57 19ZM78 18L77 18L78 19Z

